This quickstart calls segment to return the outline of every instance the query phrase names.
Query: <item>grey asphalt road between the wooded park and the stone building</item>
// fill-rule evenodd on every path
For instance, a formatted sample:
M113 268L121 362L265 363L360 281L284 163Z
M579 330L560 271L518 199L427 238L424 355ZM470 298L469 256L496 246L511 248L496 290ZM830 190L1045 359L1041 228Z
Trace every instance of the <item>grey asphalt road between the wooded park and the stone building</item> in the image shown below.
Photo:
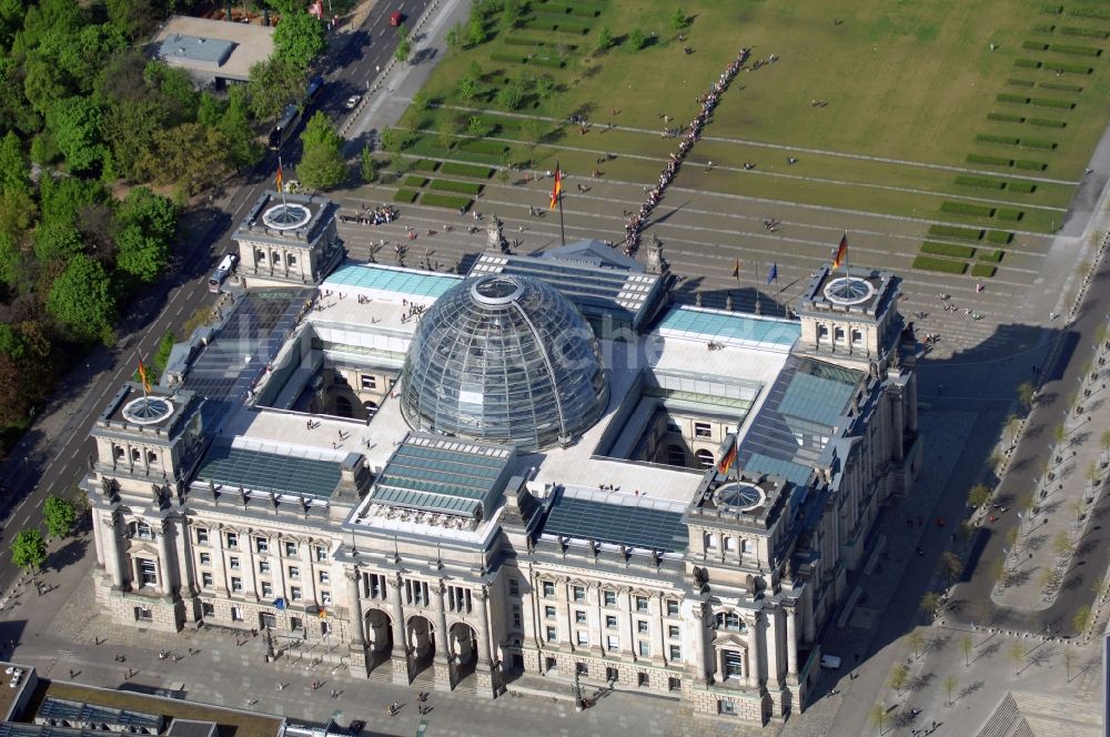
M343 108L352 93L365 92L366 81L385 67L396 48L397 34L389 16L400 10L410 20L424 12L427 0L404 0L372 9L364 22L333 39L324 62L324 88L316 109L336 122L352 114ZM303 117L302 121L303 123ZM282 151L284 161L295 161L299 145ZM98 346L78 360L58 384L38 421L0 465L0 590L8 590L19 576L8 542L26 527L41 527L41 507L47 496L68 495L87 473L95 446L89 432L104 403L135 371L138 355L152 355L167 331L181 326L201 306L212 303L208 277L219 258L233 248L231 235L246 209L273 186L276 154L268 153L254 169L226 186L222 196L186 218L192 238L182 239L171 274L162 283L125 307L114 346Z

